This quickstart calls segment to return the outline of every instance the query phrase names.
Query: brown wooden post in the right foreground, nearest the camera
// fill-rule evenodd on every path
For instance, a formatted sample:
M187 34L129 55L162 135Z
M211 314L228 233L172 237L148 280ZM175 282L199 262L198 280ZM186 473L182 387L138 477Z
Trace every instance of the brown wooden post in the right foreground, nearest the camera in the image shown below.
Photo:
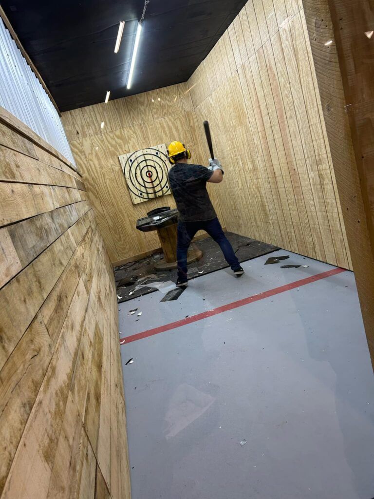
M369 0L303 0L374 366L374 11ZM326 40L333 40L326 46Z

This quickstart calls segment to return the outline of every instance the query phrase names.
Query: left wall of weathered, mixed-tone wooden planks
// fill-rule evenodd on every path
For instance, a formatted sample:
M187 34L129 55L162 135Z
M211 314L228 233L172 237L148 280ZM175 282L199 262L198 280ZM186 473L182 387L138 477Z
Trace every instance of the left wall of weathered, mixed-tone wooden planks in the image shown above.
M0 497L130 498L113 270L81 176L0 108Z

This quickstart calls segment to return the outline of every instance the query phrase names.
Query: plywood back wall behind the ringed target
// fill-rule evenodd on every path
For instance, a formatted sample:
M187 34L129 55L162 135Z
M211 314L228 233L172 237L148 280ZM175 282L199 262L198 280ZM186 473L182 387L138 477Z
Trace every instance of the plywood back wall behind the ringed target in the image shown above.
M198 145L192 140L194 113L187 83L74 109L62 114L62 122L111 261L159 248L156 232L136 230L136 221L154 208L175 208L174 199L165 196L134 206L118 156L181 140L193 161Z

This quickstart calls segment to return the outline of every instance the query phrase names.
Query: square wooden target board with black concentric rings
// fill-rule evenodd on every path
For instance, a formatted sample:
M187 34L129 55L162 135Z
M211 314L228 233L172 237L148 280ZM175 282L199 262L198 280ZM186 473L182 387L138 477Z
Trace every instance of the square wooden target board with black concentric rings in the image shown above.
M134 205L171 194L165 144L118 156Z

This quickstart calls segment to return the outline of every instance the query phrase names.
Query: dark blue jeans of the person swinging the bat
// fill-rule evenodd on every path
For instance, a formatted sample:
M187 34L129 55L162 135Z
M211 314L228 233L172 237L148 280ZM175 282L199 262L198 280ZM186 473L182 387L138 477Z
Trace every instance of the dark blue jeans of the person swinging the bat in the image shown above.
M179 222L178 224L178 278L187 279L187 250L190 242L197 231L205 231L219 245L222 253L232 269L237 268L240 263L236 258L231 244L222 231L221 224L217 218L212 220L201 220L198 222Z

